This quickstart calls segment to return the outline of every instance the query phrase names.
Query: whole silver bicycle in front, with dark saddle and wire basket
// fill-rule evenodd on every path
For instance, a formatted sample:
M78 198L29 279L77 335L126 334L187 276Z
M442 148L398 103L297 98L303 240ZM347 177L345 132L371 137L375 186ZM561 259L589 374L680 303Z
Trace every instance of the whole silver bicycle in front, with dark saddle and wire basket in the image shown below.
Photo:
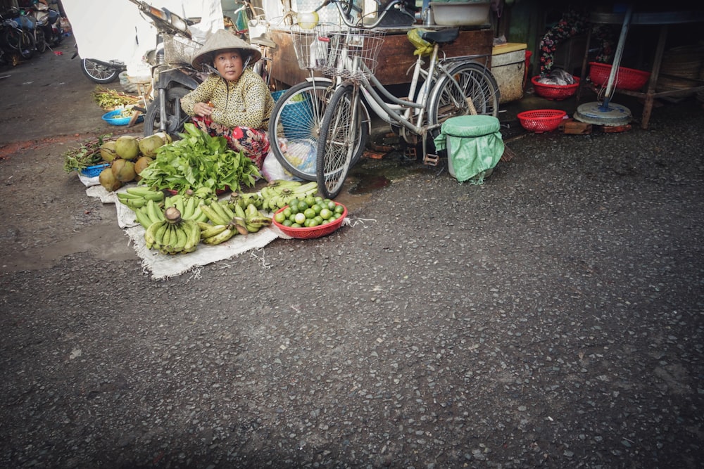
M419 34L432 45L432 53L424 73L423 54L418 54L409 98L396 98L374 76L382 33L350 28L331 37L325 72L344 81L330 98L320 127L323 144L318 145L316 180L325 197L339 194L354 164L350 145L363 132L356 116L362 96L382 120L398 127L407 143L417 145L422 140L423 161L429 164L436 164L438 156L427 153L427 139L439 134L443 122L458 115L498 114L498 84L489 69L475 60L482 55L439 58L441 46L457 39L458 28Z

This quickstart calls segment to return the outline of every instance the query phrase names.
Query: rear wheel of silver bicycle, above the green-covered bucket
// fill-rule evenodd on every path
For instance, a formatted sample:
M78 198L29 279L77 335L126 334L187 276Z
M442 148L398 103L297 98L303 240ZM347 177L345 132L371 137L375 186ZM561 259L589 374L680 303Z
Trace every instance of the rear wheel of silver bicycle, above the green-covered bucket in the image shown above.
M441 75L433 86L428 101L428 122L442 124L451 117L474 114L474 111L498 117L498 101L498 84L491 71L480 63L461 63L448 75ZM432 131L434 135L439 133L439 128Z

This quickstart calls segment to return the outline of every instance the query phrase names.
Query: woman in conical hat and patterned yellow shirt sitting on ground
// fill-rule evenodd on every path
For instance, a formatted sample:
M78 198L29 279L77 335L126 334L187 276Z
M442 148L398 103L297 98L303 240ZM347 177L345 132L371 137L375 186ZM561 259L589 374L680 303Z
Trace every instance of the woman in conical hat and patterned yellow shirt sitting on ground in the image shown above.
M231 32L215 32L191 60L196 70L210 75L181 98L181 107L196 127L225 137L232 150L241 150L261 169L269 152L274 98L262 77L248 68L260 58L256 47Z

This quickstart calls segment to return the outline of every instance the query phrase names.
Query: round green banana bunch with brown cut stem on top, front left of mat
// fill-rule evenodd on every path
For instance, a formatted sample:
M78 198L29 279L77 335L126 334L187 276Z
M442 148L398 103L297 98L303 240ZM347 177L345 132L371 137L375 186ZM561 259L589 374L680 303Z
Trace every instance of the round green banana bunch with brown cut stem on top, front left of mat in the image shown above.
M201 242L201 227L195 220L181 218L176 207L168 207L164 219L151 224L144 232L147 249L162 254L193 252Z

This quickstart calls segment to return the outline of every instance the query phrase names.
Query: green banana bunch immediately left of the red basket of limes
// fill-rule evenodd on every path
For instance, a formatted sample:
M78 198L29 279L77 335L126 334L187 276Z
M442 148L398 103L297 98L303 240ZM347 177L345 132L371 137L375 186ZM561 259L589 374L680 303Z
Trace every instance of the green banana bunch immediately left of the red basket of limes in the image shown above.
M247 205L246 209L234 205L233 212L227 204L214 201L210 205L201 205L201 210L208 214L208 219L212 222L199 222L201 242L207 245L225 243L238 233L256 233L271 225L271 217L259 212L253 204Z

